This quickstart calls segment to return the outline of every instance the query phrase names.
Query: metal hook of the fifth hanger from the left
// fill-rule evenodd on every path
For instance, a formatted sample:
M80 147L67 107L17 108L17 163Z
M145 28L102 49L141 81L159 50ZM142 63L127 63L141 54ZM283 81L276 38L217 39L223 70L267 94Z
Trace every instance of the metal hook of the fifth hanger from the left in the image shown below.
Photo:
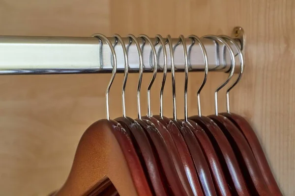
M163 49L163 80L161 84L161 90L160 90L160 118L163 118L163 92L164 92L164 86L166 83L166 77L167 77L167 51L166 51L166 45L163 37L159 34L156 35L157 42L155 45L157 45L159 42L161 42L161 46ZM160 50L160 49L159 49Z

